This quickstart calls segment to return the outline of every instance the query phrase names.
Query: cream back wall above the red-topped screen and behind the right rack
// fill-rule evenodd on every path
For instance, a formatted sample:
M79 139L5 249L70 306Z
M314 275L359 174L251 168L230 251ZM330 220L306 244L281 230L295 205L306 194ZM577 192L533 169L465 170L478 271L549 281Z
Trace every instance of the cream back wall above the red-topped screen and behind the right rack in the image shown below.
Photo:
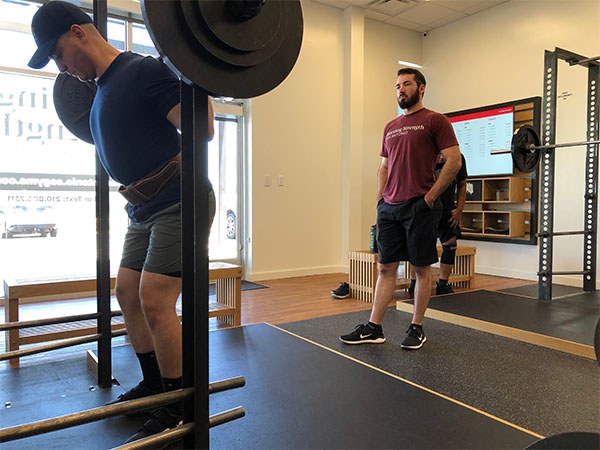
M600 54L597 0L513 0L433 30L423 39L426 104L454 111L542 96L544 50ZM587 69L559 64L557 142L586 139ZM557 150L555 230L583 229L583 148ZM537 279L537 246L468 241L476 271ZM554 270L581 270L582 237L554 240ZM600 253L599 253L600 254ZM554 281L581 285L579 277Z

